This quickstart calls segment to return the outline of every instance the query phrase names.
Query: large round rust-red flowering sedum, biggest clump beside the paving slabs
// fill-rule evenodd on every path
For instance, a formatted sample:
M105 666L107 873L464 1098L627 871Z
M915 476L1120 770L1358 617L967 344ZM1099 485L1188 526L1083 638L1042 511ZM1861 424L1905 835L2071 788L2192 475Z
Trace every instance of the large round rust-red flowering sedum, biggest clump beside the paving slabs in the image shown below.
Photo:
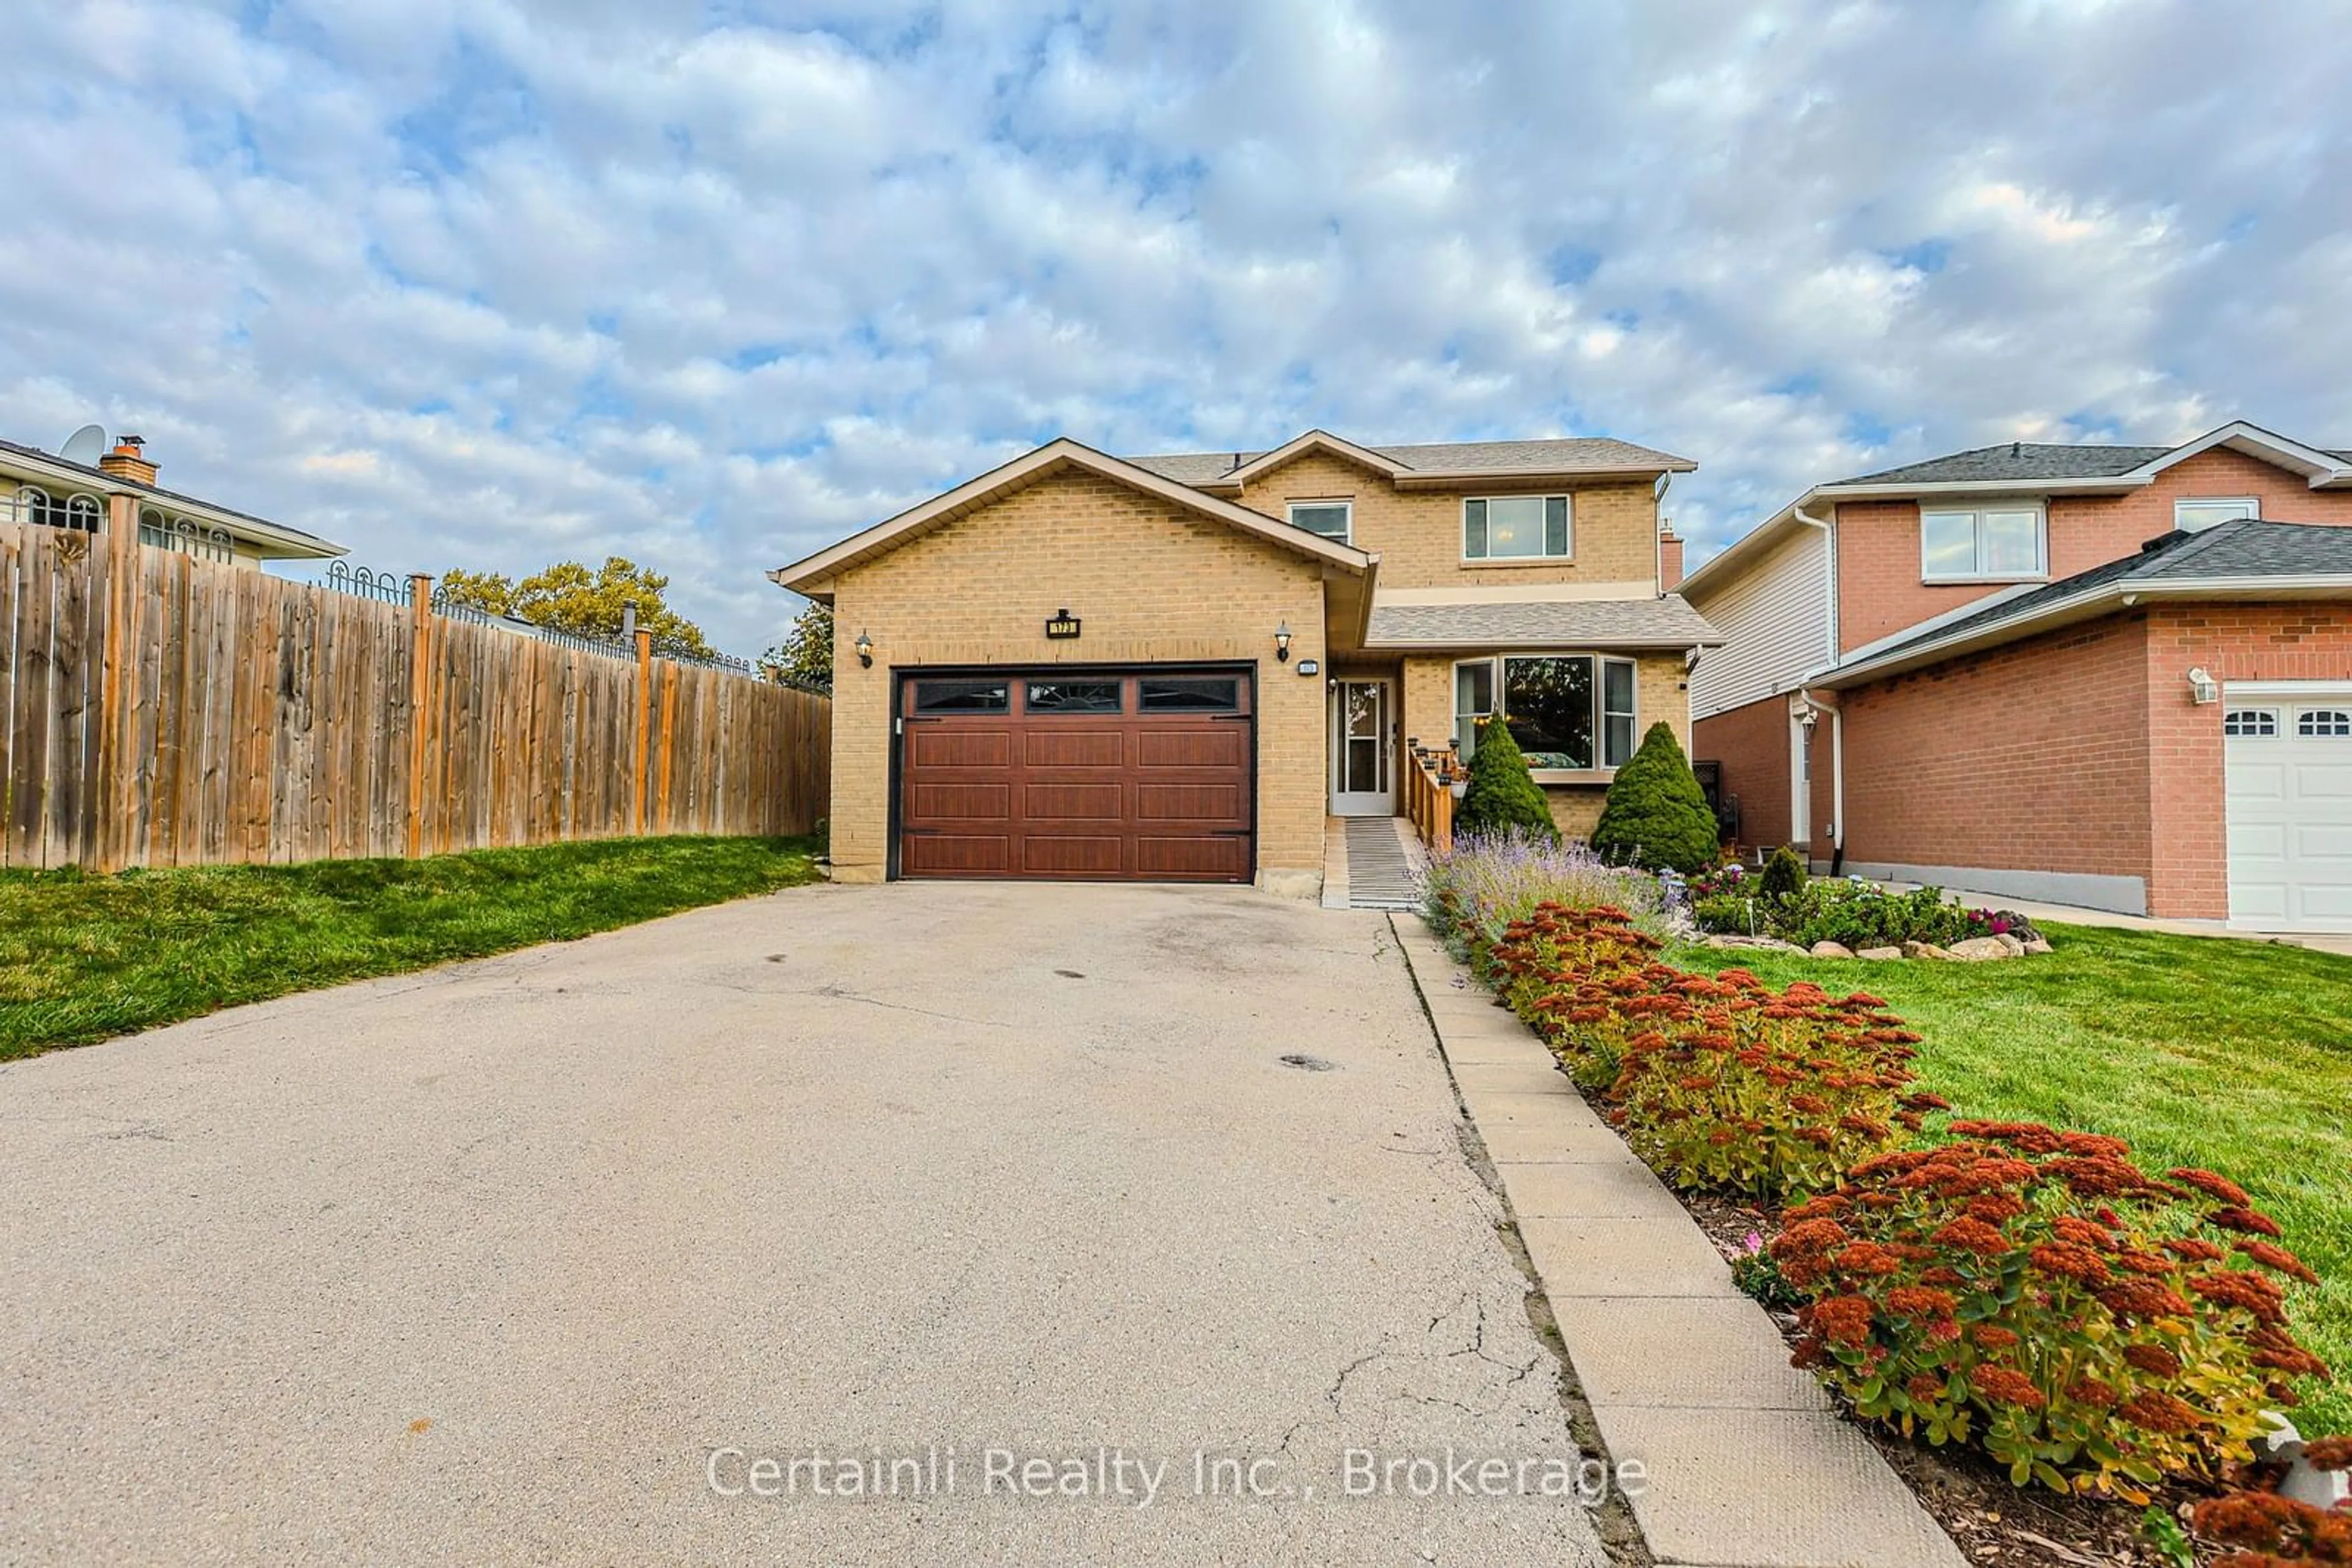
M1771 1244L1813 1298L1797 1363L1858 1415L1973 1443L2016 1486L2147 1502L2244 1462L2288 1380L2326 1375L2277 1279L2314 1274L2230 1180L2030 1121L1950 1131L1856 1164Z

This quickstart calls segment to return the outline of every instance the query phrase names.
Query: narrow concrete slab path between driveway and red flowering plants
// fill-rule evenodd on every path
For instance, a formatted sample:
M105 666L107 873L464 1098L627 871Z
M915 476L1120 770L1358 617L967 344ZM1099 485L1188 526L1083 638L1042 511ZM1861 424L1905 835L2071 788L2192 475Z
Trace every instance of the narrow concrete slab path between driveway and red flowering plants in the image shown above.
M1395 926L1609 1458L1649 1472L1632 1509L1656 1559L1964 1568L1867 1439L1790 1368L1771 1319L1550 1048L1418 917Z

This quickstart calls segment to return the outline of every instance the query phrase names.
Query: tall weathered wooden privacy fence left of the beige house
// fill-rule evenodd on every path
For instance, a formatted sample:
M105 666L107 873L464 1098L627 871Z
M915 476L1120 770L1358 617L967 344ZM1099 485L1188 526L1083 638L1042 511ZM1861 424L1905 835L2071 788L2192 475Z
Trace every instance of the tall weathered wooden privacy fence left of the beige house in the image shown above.
M628 644L0 524L12 867L809 832L830 701ZM365 590L365 574L362 574Z

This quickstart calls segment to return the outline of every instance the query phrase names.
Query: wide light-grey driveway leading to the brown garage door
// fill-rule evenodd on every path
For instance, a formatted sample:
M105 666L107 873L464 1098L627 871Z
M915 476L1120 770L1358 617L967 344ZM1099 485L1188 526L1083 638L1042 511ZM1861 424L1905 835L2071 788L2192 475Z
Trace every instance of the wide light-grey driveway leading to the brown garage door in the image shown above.
M802 889L0 1067L0 1561L1597 1563L1456 1126L1385 919L1242 889Z

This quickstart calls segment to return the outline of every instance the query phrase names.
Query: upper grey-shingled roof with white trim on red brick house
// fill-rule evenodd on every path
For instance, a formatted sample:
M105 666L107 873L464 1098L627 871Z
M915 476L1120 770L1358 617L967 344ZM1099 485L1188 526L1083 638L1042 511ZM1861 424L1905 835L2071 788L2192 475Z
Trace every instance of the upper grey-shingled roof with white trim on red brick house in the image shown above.
M2098 442L2072 447L2046 442L1971 447L1969 451L1952 451L1922 463L1816 484L1700 562L1682 581L1682 592L1710 592L1729 583L1743 562L1757 557L1773 541L1799 527L1802 520L1797 512L1816 501L1907 501L1915 496L1969 494L2129 496L2136 489L2154 484L2157 475L2166 468L2216 447L2274 463L2300 475L2312 489L2352 489L2352 451L2310 447L2244 418L2206 430L2178 447L2110 447Z

